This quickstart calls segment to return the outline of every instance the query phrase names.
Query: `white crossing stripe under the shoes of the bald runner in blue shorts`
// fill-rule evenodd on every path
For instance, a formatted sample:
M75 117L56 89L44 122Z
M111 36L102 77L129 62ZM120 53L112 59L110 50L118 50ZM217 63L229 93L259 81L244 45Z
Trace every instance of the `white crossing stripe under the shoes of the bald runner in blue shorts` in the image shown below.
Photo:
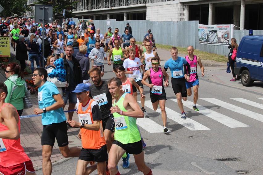
M177 100L173 100L175 102L177 102ZM193 102L190 102L190 101L183 101L183 104L184 106L186 106L187 108L190 108L190 109L193 109ZM222 123L230 128L239 128L239 127L248 127L249 125L246 125L244 123L241 123L235 119L232 119L228 116L225 116L223 114L220 114L218 112L215 112L211 109L208 109L208 108L205 108L203 106L200 106L198 104L197 105L197 108L199 109L199 111L196 111L196 112L199 112L215 121L218 121L219 123Z

